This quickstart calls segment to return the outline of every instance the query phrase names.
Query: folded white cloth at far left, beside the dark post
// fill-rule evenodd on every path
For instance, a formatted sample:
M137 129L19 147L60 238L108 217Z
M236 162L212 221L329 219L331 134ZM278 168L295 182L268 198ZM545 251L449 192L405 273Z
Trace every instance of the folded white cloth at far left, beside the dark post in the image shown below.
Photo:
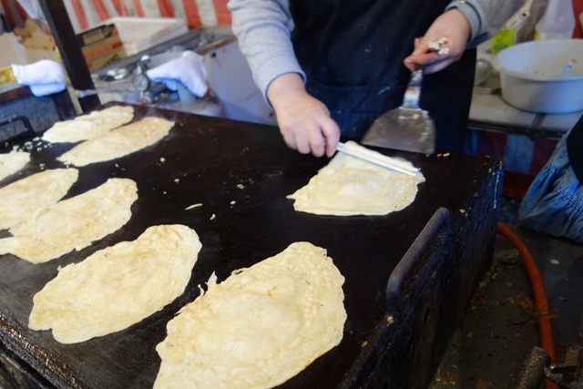
M50 59L43 59L30 65L12 65L18 84L30 87L36 97L50 95L65 90L66 78L63 68Z

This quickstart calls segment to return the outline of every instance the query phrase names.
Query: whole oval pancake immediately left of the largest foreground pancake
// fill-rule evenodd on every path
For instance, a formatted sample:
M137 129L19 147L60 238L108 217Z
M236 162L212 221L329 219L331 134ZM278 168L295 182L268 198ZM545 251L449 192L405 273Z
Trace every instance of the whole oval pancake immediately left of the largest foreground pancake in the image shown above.
M173 302L189 283L201 245L182 225L149 227L136 241L59 269L34 297L28 326L60 343L115 333Z

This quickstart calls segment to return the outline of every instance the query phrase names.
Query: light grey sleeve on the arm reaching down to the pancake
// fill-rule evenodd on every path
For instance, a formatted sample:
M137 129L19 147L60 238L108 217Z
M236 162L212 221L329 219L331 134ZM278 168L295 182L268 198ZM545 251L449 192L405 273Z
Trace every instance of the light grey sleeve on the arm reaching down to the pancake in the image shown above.
M232 29L265 101L271 81L287 73L305 74L290 39L293 20L288 0L230 0Z

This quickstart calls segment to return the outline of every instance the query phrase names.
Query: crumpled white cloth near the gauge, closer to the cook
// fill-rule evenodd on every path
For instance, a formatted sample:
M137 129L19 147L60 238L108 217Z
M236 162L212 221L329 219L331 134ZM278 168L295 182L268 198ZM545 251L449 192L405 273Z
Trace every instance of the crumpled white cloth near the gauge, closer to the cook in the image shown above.
M178 83L181 82L197 97L204 97L209 88L202 56L193 51L185 51L179 58L149 69L147 75L152 81L164 83L170 90L177 90Z

